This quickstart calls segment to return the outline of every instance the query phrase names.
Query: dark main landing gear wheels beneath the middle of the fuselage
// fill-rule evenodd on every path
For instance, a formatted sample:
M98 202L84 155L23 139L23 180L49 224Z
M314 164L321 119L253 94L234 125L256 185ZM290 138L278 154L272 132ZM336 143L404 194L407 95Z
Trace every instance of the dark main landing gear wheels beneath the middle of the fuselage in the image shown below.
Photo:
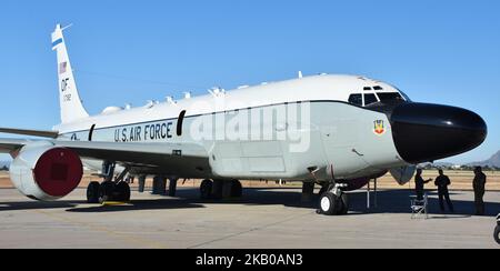
M242 195L243 187L238 180L203 180L200 185L200 198L202 200L241 198Z

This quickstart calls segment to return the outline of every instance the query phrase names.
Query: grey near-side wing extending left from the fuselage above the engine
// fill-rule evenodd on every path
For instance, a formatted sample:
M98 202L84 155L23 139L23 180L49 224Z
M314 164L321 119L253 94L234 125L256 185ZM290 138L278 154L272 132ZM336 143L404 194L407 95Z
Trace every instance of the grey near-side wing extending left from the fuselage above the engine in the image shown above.
M0 152L9 153L36 142L22 139L0 139ZM116 143L47 140L56 147L73 150L82 159L114 161L122 165L162 168L177 174L210 169L208 153L194 143Z

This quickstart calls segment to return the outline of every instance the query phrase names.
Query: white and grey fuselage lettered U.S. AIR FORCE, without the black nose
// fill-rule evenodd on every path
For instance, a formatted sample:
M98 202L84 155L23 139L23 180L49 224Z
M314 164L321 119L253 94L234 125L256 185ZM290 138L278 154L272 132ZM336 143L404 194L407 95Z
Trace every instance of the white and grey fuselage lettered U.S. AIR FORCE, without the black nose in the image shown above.
M202 145L210 175L179 178L354 179L407 164L388 117L349 103L353 93L376 92L399 93L366 78L316 76L143 108L109 108L54 130L64 140ZM154 173L171 173L161 171Z

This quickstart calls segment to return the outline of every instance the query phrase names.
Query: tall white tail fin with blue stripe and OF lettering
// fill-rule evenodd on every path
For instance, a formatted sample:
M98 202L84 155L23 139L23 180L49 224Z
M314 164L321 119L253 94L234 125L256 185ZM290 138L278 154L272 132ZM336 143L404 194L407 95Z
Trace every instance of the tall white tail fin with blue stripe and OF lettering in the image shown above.
M58 76L59 76L59 102L61 107L62 123L72 122L89 117L78 93L73 71L68 57L64 37L61 24L56 27L52 33L52 50L58 54Z

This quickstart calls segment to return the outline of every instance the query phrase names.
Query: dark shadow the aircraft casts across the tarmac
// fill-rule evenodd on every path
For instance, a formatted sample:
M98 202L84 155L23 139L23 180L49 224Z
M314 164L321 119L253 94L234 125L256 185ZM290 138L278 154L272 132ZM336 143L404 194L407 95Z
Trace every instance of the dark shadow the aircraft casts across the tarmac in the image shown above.
M453 195L460 192L451 193ZM350 192L350 214L363 215L372 213L411 213L410 200L412 195L410 190L386 190L378 192L378 207L367 209L367 194L364 191ZM373 195L373 194L372 194ZM430 192L429 195L434 195ZM122 205L86 205L84 201L59 201L59 202L0 202L0 212L18 210L42 210L42 209L66 209L68 212L126 212L138 210L174 210L206 208L206 204L247 204L247 205L284 205L290 208L311 209L318 208L319 197L316 195L312 201L301 202L301 193L297 189L254 189L244 190L244 195L240 199L227 200L200 200L198 189L180 189L178 198L164 197L163 199L133 200ZM373 198L372 198L373 203ZM473 199L470 201L453 200L456 212L452 218L470 217L474 213ZM487 202L487 215L494 217L500 212L500 203ZM429 198L429 213L441 214L439 200ZM443 217L436 217L443 218Z

